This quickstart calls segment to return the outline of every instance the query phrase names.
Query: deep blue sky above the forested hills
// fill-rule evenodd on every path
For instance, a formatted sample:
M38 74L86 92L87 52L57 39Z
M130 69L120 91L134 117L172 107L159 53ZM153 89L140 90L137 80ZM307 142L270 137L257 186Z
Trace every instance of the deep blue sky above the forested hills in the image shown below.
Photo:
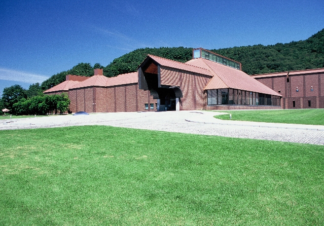
M323 28L323 0L2 0L0 95L80 62L106 66L138 48L273 45Z

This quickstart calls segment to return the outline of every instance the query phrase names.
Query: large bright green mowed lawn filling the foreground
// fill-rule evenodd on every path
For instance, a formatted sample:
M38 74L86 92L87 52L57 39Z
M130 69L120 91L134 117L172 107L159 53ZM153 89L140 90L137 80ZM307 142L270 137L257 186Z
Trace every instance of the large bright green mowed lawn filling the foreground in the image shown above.
M0 225L323 225L324 147L108 126L0 131Z

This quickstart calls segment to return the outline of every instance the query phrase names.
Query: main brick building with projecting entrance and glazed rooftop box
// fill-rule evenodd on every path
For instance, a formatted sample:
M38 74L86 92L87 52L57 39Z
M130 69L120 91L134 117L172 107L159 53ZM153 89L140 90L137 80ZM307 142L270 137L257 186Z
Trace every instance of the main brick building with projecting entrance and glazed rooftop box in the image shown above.
M67 92L72 112L281 109L281 94L244 73L241 63L202 48L186 63L148 55L137 72L107 78L95 69L93 77L77 78L44 93Z

